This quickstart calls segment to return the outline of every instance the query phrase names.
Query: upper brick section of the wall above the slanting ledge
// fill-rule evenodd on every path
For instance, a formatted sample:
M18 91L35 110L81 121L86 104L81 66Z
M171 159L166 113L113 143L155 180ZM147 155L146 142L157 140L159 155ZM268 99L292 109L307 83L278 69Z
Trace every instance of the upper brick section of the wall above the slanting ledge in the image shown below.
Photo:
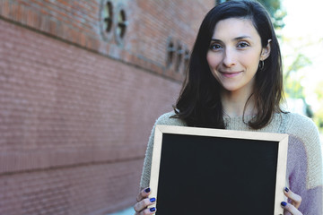
M5 0L4 0L5 1ZM156 3L154 1L139 1L138 4L131 4L130 1L123 1L124 8L127 12L127 19L129 25L127 27L127 33L125 37L125 44L120 49L127 48L130 53L135 53L138 56L144 56L148 61L153 61L155 64L165 64L165 37L163 35L170 36L182 40L182 42L188 47L192 47L192 43L195 38L196 30L201 18L205 14L208 8L211 8L214 1L205 0L203 3L190 1L163 1L162 3ZM7 4L7 0L4 2ZM77 43L80 46L94 49L94 51L102 51L109 46L107 42L104 42L100 36L100 22L99 13L100 5L97 1L37 1L37 0L13 0L11 1L12 7L9 10L9 19L13 19L22 24L27 24L32 28L43 30L47 33L53 34L62 39L69 40L73 43ZM118 2L113 2L115 7ZM190 6L186 6L190 5ZM5 8L5 7L3 7ZM17 12L17 8L19 9ZM182 8L185 8L183 10ZM193 10L194 8L194 10ZM200 8L200 10L196 10ZM32 10L32 15L29 15L29 11ZM2 15L6 14L5 9L2 10ZM144 13L143 13L144 12ZM24 13L24 14L23 14ZM135 15L142 14L142 15ZM22 17L29 17L29 22L25 22ZM178 24L175 26L174 21ZM60 26L60 30L55 32L53 22L57 22L57 26ZM50 26L48 26L50 25ZM62 26L62 27L61 27ZM72 36L69 37L62 35L66 29L72 29ZM74 31L77 34L86 33L86 39L78 39L74 36ZM84 43L83 41L92 41ZM155 42L158 41L158 42ZM163 41L163 43L162 43ZM109 43L116 43L115 39L109 41ZM163 44L161 46L161 44ZM141 47L141 48L136 48ZM143 48L144 47L144 48ZM115 53L115 52L114 52ZM102 54L106 54L103 52ZM108 54L109 55L109 54ZM113 53L110 54L113 58L123 60L122 56L116 56ZM137 64L136 62L128 62L130 64ZM145 69L152 71L153 73L160 73L161 69L153 69L153 64L143 64ZM171 68L173 69L173 68ZM171 77L171 73L169 76ZM177 77L173 77L177 80Z

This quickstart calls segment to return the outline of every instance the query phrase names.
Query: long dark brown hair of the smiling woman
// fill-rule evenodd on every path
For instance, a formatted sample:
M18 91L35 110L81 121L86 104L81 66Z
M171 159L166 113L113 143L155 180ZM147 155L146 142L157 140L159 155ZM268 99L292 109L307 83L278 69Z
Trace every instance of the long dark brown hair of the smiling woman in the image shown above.
M250 20L258 30L262 47L266 47L268 39L271 39L270 56L264 61L264 68L256 73L252 94L258 114L247 122L249 127L260 129L271 121L275 112L283 112L280 102L284 91L282 59L275 30L264 6L255 1L225 2L206 14L192 50L186 79L174 106L176 114L172 117L184 120L188 126L225 128L220 98L222 87L210 71L206 54L216 23L228 18Z

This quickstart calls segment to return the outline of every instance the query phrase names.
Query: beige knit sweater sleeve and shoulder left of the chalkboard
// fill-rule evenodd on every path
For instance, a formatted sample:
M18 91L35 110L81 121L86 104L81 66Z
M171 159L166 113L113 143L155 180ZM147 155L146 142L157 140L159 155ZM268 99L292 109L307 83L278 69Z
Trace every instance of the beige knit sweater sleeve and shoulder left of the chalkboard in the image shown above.
M160 116L155 124L153 125L152 133L149 137L147 149L144 157L144 168L141 176L140 187L148 187L150 182L151 168L152 168L152 159L153 159L153 140L154 140L154 131L156 125L179 125L185 126L185 124L180 121L178 118L170 118L173 116L174 112L169 112Z

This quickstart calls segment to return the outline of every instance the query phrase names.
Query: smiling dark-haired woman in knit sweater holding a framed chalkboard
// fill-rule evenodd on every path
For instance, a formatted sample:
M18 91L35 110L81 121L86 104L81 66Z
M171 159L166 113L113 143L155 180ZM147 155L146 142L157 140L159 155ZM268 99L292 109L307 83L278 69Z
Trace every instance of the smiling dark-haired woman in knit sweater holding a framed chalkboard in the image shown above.
M322 158L312 121L284 112L281 55L270 17L261 4L229 1L206 14L192 51L188 75L174 112L156 125L181 125L288 133L287 184L282 202L291 214L322 214ZM153 151L148 142L135 214L147 206ZM289 188L287 188L287 186ZM297 193L297 194L296 194Z

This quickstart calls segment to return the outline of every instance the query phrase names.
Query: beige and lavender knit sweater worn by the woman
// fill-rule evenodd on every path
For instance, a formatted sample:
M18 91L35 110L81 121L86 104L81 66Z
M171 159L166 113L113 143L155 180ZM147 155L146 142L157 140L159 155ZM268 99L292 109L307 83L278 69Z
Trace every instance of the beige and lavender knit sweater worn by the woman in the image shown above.
M182 120L170 118L173 115L174 112L169 112L160 116L155 125L186 126ZM250 119L251 117L246 117L244 121L248 122ZM301 195L300 211L303 214L322 214L322 153L319 131L310 118L292 113L275 114L273 120L266 127L258 130L249 128L241 117L224 116L224 124L228 130L290 134L286 172L287 186L294 193ZM149 186L155 125L147 145L141 187Z

